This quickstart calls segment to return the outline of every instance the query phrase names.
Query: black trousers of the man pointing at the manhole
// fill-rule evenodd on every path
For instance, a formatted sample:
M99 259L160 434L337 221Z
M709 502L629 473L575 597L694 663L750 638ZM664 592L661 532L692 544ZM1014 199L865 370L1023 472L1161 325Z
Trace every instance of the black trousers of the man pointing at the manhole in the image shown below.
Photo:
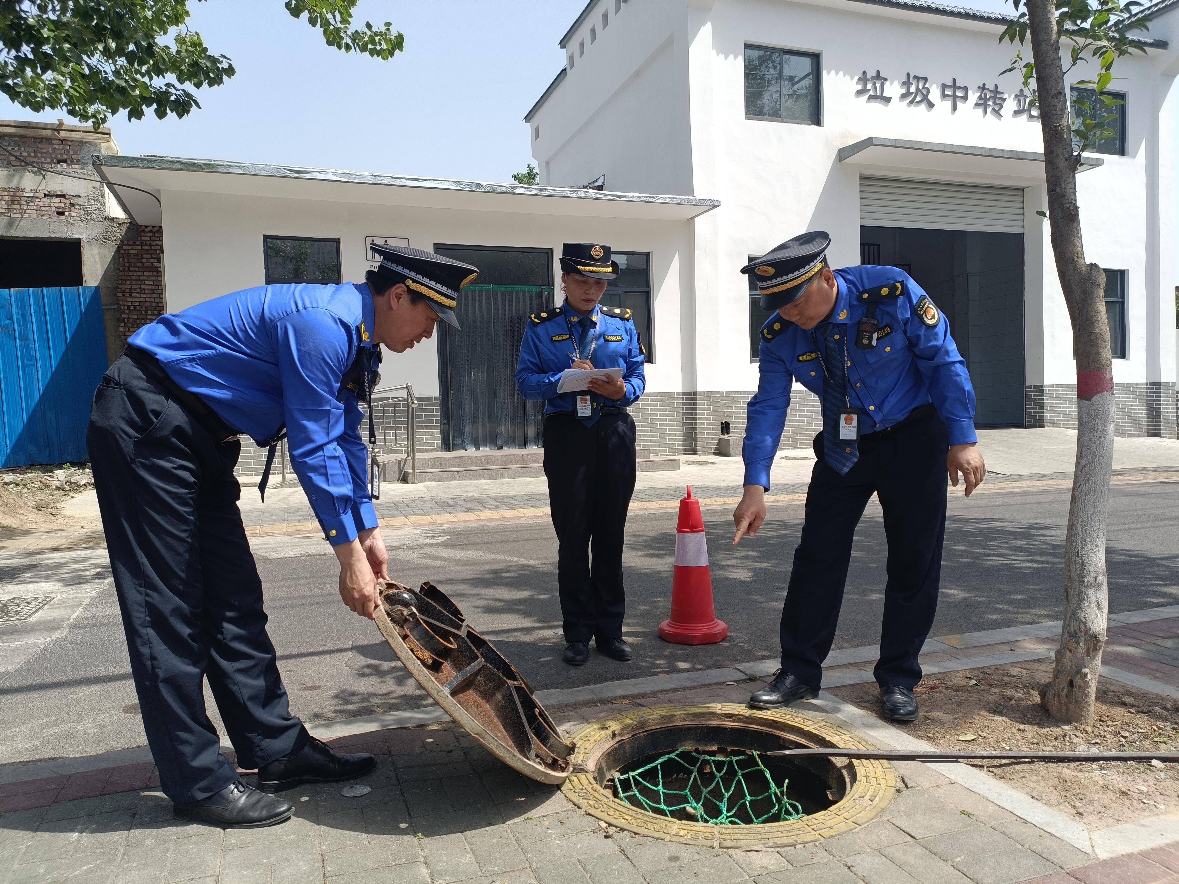
M806 489L802 542L782 608L782 669L818 688L831 651L851 560L851 540L872 493L884 510L888 582L876 681L914 687L917 654L937 612L946 536L946 424L931 407L907 422L863 436L859 460L841 476L818 461Z

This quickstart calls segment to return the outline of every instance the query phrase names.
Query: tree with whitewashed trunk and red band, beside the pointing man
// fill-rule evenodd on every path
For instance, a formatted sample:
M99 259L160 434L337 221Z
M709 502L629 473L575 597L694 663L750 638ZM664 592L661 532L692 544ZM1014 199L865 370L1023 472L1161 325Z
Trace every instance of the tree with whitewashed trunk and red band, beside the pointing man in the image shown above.
M1040 699L1054 719L1089 724L1109 609L1106 520L1114 391L1105 272L1085 259L1076 172L1085 151L1115 134L1111 124L1119 101L1105 91L1113 81L1117 59L1145 54L1135 32L1145 31L1148 20L1138 14L1141 4L1134 1L1012 2L1019 18L1000 39L1030 41L1032 60L1020 51L1003 73L1020 71L1033 106L1039 107L1048 190L1048 211L1040 215L1048 218L1076 352L1076 466L1065 537L1065 615L1052 680L1040 688ZM1074 92L1069 101L1065 78L1082 64L1092 65L1095 75L1074 83L1085 91Z

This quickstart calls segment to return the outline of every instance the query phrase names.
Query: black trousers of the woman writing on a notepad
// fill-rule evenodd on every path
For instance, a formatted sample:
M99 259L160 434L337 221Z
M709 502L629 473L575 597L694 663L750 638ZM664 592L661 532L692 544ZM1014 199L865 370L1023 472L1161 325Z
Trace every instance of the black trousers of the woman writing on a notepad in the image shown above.
M634 418L545 418L545 476L559 545L556 582L566 641L623 638L623 543L634 493ZM593 569L590 550L593 547Z

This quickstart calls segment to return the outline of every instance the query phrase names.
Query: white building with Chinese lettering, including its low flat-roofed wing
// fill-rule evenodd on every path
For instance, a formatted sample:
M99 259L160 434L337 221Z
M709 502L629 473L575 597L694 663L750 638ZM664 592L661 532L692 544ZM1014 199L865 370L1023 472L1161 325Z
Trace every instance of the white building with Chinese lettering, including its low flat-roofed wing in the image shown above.
M1173 4L1152 7L1146 55L1118 62L1119 134L1079 178L1087 255L1109 271L1122 435L1177 431ZM924 285L968 359L980 424L1069 425L1040 127L1019 78L1000 75L1005 24L909 0L592 0L527 117L544 186L159 157L98 170L137 224L163 227L163 310L358 281L370 238L481 266L492 288L465 293L463 331L384 365L387 384L423 397L427 450L536 444L515 349L527 315L560 301L572 240L625 264L607 299L634 310L650 351L640 447L710 451L722 421L739 435L764 315L738 269L815 229L837 266L897 264ZM783 444L817 429L798 390Z

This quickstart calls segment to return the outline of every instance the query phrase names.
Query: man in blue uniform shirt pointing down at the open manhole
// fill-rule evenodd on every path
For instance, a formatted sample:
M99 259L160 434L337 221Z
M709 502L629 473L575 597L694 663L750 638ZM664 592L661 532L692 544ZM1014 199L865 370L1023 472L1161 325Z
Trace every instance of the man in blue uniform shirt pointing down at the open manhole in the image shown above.
M782 609L782 668L750 697L773 708L818 694L851 541L875 493L884 513L888 582L876 681L885 718L915 721L917 654L937 609L946 474L967 496L987 468L974 431L974 388L949 324L897 268L832 271L830 237L795 237L742 268L762 308L760 380L749 402L745 490L733 545L765 520L765 492L795 380L823 404L802 541Z

